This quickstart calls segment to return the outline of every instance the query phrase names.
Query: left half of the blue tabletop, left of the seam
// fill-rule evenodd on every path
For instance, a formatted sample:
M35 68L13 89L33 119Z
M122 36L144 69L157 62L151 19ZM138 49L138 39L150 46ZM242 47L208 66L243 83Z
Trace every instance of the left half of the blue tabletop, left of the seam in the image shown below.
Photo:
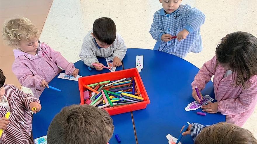
M105 58L98 58L100 63L106 64ZM87 66L82 62L78 61L74 63L81 76L89 76L93 74L101 74L110 72L108 69L103 69L103 71L97 71L92 68L90 72ZM122 70L121 67L117 67L116 71ZM63 71L64 73L65 71ZM42 109L39 113L33 115L32 120L32 131L33 138L38 138L47 135L47 129L54 118L54 116L61 111L65 106L70 106L72 104L80 104L80 93L78 87L78 81L71 81L66 79L59 79L57 76L49 83L50 86L62 90L58 92L52 89L45 89L40 96L40 102ZM131 112L122 113L119 115L112 116L114 123L114 135L118 134L123 140L122 143L136 143ZM126 131L124 131L126 129ZM115 137L111 138L110 143L118 143Z

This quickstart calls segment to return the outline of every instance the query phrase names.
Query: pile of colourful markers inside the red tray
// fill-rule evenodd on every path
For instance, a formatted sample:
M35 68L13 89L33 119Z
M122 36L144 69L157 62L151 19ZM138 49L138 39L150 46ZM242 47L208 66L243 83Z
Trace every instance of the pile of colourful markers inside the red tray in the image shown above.
M85 104L103 109L143 102L138 86L137 77L83 84Z

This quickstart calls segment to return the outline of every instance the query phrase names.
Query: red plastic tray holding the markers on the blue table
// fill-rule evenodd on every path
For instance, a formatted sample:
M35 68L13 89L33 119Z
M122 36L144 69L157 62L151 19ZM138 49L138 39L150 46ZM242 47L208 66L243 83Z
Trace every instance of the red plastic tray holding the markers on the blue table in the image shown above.
M147 104L150 104L150 100L146 93L143 81L142 81L142 79L139 75L139 72L136 68L120 70L117 72L108 72L108 73L104 73L104 74L96 74L96 75L79 78L79 91L80 91L80 102L81 102L80 104L81 105L85 104L83 93L86 89L83 87L83 84L89 85L92 83L98 83L98 82L102 82L102 81L108 81L108 80L114 81L114 80L119 80L119 79L123 79L123 78L130 78L130 77L136 77L135 80L137 83L137 87L139 88L139 91L141 92L141 95L144 98L144 101L134 103L134 104L118 106L118 107L105 108L105 110L108 111L108 113L110 115L117 115L120 113L126 113L126 112L130 112L130 111L136 111L139 109L145 109Z

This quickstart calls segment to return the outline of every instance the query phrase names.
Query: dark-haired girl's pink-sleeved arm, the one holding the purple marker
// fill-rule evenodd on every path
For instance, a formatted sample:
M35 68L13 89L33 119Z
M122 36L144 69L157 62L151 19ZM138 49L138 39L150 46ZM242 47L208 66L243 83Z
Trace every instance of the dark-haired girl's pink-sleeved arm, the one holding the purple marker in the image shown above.
M203 67L196 74L195 79L191 84L192 89L195 89L195 86L197 86L199 90L203 90L205 88L205 84L209 82L211 77L215 74L216 63L216 56L204 63Z

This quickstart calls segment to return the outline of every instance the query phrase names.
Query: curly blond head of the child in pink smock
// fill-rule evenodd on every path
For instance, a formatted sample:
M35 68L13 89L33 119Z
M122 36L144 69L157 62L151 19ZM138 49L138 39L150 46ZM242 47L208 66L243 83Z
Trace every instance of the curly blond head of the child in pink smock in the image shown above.
M33 53L38 46L39 31L29 19L16 18L4 23L3 38L9 46Z

